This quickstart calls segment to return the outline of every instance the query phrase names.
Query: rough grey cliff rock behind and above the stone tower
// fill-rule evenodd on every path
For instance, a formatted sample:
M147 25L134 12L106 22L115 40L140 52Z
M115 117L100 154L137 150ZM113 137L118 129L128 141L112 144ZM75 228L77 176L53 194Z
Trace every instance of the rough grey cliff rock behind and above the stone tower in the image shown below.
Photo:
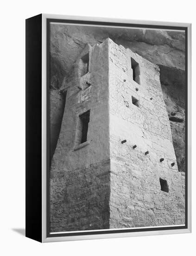
M66 80L74 61L87 43L93 46L108 37L159 66L178 170L185 171L185 34L183 32L51 24L51 90L60 91L63 80ZM51 104L57 104L60 114L53 113L51 108L53 117L51 126L55 126L53 124L55 120L59 129L64 103L59 104L57 94L52 91ZM58 112L57 108L54 111ZM59 131L52 134L52 145L57 144L58 134ZM53 151L54 149L51 157Z

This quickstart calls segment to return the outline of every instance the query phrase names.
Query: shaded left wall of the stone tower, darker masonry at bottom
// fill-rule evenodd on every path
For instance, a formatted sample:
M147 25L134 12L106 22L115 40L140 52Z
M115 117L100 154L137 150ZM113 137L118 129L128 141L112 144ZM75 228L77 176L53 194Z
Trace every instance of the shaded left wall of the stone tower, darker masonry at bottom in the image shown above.
M85 74L86 54L89 72ZM83 58L83 61L82 61ZM108 41L87 45L63 85L61 132L51 163L51 232L109 228ZM87 141L79 115L90 110Z

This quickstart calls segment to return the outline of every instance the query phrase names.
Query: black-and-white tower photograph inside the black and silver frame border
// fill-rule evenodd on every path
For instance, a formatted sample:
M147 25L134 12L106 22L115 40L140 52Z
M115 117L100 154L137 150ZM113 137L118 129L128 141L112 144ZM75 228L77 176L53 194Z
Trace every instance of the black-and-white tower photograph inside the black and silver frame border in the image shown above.
M185 31L50 22L50 234L185 225Z

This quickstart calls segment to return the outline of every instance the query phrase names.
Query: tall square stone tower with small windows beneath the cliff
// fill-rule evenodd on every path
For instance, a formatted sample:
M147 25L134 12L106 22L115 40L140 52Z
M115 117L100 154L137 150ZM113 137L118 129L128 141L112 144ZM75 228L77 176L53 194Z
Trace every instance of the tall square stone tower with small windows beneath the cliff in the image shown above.
M51 162L51 232L184 224L159 68L107 39L64 81Z

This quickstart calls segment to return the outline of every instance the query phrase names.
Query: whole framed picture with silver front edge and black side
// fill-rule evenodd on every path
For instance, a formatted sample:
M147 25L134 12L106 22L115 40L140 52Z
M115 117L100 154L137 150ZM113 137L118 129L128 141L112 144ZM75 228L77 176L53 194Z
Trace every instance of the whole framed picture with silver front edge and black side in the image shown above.
M26 20L26 236L191 232L191 24Z

